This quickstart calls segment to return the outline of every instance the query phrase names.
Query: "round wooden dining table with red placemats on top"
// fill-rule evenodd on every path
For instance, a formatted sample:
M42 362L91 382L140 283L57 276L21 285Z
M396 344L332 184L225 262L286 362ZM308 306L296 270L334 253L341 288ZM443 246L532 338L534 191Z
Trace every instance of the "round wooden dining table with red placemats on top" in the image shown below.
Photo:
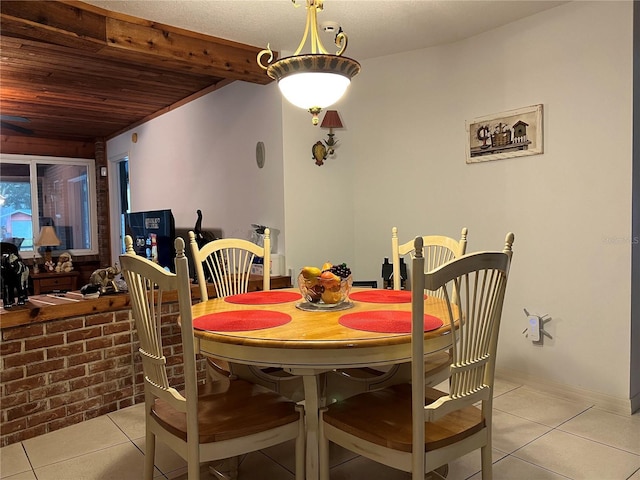
M354 288L348 303L325 307L309 304L297 289L271 290L210 299L193 305L192 312L196 350L202 355L302 376L307 479L319 477L318 376L411 360L407 291ZM425 296L425 354L451 345L448 318L443 300Z

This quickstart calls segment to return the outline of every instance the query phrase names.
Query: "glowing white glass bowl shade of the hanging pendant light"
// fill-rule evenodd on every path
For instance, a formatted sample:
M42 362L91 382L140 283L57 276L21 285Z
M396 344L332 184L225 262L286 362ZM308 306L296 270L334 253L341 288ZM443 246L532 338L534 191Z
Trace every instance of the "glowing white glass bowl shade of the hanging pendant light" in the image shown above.
M282 95L296 107L304 109L326 108L340 100L351 80L330 72L294 73L280 79Z

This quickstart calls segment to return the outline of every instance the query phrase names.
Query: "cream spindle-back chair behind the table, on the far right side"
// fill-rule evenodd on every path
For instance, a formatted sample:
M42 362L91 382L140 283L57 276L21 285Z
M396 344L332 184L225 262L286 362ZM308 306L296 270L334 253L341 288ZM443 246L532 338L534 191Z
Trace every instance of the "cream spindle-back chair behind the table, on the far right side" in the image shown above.
M426 271L433 270L446 262L458 258L467 250L467 228L464 227L460 233L460 240L455 240L443 235L425 235L423 242L423 257L425 259ZM391 257L393 260L393 289L400 290L400 257L410 256L413 258L415 240L403 243L398 242L398 229L391 229ZM426 293L431 296L442 298L441 291ZM451 364L451 352L437 352L425 357L425 386L433 387L442 383L449 377L449 365ZM388 387L394 383L407 380L410 372L407 365L393 365L384 372L375 368L349 368L337 370L338 375L330 376L330 388L332 391L343 390L348 392L371 391Z

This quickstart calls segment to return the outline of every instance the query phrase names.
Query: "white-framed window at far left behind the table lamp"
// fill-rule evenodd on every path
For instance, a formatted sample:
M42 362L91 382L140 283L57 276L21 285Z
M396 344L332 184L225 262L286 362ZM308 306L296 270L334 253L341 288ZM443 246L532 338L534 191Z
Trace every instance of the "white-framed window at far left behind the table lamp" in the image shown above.
M53 226L60 240L53 250L68 250L72 255L98 253L94 160L3 155L2 241L33 252L45 225Z

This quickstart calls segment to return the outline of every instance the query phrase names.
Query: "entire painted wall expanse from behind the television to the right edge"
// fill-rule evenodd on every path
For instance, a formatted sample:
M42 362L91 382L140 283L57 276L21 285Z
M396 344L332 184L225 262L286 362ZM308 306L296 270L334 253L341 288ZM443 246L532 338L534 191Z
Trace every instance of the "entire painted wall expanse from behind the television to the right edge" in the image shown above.
M191 227L201 208L227 236L275 225L294 275L328 260L380 280L394 225L402 240L466 226L469 250L501 249L513 231L498 367L629 399L632 10L571 2L362 61L332 107L346 128L322 167L311 146L326 130L274 85L239 82L135 129L135 145L130 132L108 142L108 155L130 154L135 210L171 208ZM536 103L544 154L465 164L465 120ZM521 334L524 307L553 318L543 347Z

